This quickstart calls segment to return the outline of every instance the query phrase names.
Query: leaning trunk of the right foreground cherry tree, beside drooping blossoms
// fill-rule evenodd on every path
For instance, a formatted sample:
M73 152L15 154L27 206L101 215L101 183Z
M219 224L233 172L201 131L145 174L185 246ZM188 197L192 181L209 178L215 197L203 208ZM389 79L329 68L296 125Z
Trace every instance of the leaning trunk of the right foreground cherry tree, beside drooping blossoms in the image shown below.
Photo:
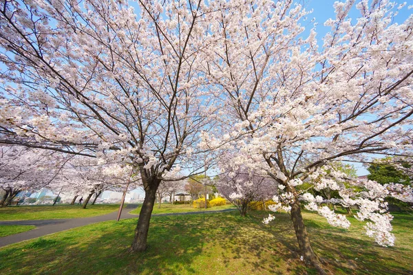
M303 216L301 215L301 208L298 197L294 197L293 203L291 206L291 219L293 219L293 225L295 230L295 236L297 236L298 246L300 250L300 256L303 256L306 263L313 265L319 274L326 274L321 267L318 256L313 251L310 245L310 239L308 238L306 225L304 224Z

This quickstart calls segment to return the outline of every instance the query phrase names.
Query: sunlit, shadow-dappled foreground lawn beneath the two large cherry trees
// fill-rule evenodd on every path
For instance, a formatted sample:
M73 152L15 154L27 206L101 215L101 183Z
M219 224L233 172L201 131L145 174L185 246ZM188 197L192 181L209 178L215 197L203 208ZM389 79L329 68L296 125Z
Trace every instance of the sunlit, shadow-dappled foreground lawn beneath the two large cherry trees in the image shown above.
M146 252L129 254L136 219L105 221L0 249L0 274L316 274L299 261L288 214L153 217ZM395 214L396 245L382 248L354 221L331 228L304 213L313 248L332 274L411 274L413 217Z

